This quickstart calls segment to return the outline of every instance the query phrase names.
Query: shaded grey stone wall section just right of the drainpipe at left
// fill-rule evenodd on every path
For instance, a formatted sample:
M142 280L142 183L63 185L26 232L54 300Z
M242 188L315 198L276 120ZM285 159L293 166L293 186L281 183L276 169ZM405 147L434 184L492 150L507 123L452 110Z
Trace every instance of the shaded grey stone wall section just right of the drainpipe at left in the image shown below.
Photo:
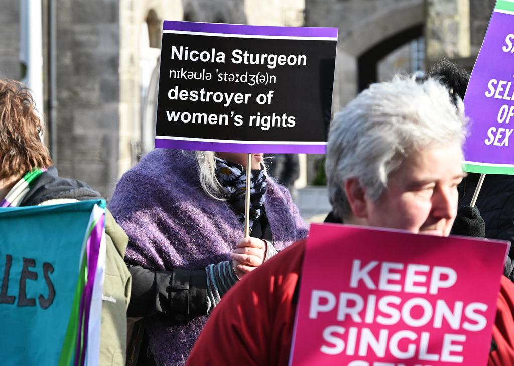
M109 196L118 175L118 1L59 0L57 9L57 167Z

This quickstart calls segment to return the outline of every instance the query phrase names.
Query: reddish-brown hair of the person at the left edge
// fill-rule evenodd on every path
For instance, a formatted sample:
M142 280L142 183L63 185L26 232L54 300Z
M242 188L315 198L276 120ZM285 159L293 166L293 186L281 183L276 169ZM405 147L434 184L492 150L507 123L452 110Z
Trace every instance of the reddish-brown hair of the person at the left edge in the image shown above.
M15 80L0 80L0 180L51 166L41 130L29 89Z

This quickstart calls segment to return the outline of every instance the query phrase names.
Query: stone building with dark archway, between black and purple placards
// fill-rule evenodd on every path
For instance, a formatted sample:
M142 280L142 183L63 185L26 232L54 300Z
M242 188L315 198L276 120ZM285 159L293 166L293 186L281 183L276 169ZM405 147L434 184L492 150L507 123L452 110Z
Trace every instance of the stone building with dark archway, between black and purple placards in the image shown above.
M305 25L339 27L333 111L393 71L426 69L442 57L471 70L494 4L494 0L307 0ZM419 50L425 53L424 67L413 62ZM309 156L309 175L321 158Z

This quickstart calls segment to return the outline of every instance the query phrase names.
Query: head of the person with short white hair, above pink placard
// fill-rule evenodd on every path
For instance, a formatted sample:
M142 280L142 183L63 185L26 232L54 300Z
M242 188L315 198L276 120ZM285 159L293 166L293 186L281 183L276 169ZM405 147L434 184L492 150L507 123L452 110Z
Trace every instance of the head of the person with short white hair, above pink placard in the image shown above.
M462 101L435 79L363 91L331 126L325 169L334 213L348 224L448 236L465 176L465 123Z

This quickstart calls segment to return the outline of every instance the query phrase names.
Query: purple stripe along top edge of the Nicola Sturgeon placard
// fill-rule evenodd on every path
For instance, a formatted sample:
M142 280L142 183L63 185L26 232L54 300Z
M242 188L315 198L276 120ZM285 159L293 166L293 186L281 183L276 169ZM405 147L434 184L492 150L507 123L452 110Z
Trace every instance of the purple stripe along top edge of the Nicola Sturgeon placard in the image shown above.
M323 37L334 39L337 39L338 31L338 28L277 27L262 25L198 23L179 21L164 21L162 29L202 33L274 35L289 37Z

